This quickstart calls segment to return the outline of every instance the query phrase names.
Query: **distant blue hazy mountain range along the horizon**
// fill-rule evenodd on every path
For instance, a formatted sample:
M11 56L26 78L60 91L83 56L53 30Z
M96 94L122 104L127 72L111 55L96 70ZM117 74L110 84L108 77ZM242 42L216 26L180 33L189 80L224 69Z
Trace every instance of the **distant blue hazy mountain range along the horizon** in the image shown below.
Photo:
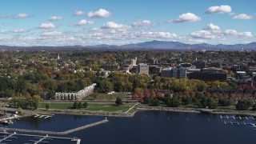
M1 50L9 49L36 49L36 50L256 50L256 42L248 44L235 45L210 45L207 43L201 44L186 44L182 42L165 42L165 41L150 41L132 43L128 45L96 45L96 46L0 46Z

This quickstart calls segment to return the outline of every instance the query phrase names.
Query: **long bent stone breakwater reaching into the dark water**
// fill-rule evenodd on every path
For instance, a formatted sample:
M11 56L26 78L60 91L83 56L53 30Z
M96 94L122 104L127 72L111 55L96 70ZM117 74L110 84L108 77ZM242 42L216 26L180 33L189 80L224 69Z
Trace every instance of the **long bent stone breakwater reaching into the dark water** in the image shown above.
M16 129L16 128L8 128L8 127L2 127L1 130L6 130L6 131L15 131L15 132L26 132L26 133L35 133L35 134L55 134L55 135L64 135L64 134L70 134L70 133L74 133L75 131L78 130L84 130L86 128L92 127L92 126L97 126L100 125L102 123L106 123L109 122L109 120L104 119L102 121L99 122L94 122L94 123L90 123L86 126L80 126L71 130L66 130L66 131L47 131L47 130L26 130L26 129Z

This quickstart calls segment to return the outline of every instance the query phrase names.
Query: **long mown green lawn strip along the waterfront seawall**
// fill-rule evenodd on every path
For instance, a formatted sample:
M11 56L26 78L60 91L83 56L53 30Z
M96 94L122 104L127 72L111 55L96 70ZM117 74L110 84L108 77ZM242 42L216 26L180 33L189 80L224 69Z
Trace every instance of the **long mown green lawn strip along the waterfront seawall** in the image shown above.
M116 106L114 104L105 103L89 103L87 108L81 108L77 110L92 110L92 111L108 111L108 112L125 112L133 104L125 104L122 106ZM45 109L46 103L42 103L39 108ZM50 109L61 109L61 110L74 110L73 103L50 103Z

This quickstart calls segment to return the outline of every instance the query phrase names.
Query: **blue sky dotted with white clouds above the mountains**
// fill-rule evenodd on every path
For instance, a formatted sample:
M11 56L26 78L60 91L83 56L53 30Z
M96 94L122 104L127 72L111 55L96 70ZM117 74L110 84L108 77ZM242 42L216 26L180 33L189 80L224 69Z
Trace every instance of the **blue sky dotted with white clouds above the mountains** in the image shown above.
M0 45L256 42L254 0L0 0Z

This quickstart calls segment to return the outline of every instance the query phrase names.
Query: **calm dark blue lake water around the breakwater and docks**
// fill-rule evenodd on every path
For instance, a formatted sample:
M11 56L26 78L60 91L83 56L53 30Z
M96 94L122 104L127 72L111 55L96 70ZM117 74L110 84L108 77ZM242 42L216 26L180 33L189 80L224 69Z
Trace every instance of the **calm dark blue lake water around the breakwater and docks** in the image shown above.
M56 114L53 118L46 119L22 118L10 127L63 131L91 122L97 122L103 118ZM135 114L133 118L109 117L108 119L110 122L63 135L63 137L82 138L81 143L86 144L254 144L256 142L256 130L253 130L251 126L224 125L224 119L221 119L218 114L141 111ZM230 120L226 119L227 121L230 122ZM238 120L232 119L232 121ZM244 121L251 122L250 120ZM242 121L239 120L239 122ZM18 139L18 143L28 142L25 138ZM59 140L50 143L64 144L71 142Z

